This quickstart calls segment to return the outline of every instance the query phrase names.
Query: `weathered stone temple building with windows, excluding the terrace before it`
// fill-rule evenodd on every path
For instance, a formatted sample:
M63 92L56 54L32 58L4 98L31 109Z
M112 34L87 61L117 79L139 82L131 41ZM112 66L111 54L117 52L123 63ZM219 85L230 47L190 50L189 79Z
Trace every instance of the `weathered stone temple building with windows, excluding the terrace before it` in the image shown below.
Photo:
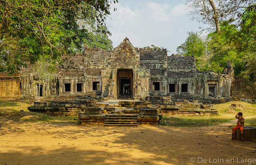
M21 98L70 99L93 96L144 100L162 96L172 100L220 102L230 98L234 70L230 62L222 74L196 69L194 56L167 56L166 49L138 49L125 38L114 50L86 49L64 55L54 79L38 85L32 64L20 73Z

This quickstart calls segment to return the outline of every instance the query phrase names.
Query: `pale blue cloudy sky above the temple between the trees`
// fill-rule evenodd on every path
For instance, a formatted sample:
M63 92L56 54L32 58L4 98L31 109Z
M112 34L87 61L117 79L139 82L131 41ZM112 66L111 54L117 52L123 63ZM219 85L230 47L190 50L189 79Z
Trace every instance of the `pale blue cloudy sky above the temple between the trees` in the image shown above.
M202 26L190 20L185 0L118 0L106 20L112 33L109 37L117 47L125 37L134 47L155 45L167 49L168 55L185 42L188 31ZM114 11L114 8L117 10Z

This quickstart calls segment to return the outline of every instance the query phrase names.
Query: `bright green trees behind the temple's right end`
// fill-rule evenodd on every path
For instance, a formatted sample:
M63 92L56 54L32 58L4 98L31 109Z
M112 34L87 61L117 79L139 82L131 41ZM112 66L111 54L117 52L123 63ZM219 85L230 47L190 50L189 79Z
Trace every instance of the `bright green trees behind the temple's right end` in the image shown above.
M256 80L256 26L252 25L254 14L245 12L240 27L220 23L220 32L208 34L206 40L189 32L185 43L177 48L183 55L195 54L197 68L201 71L213 70L222 73L230 60L234 75L243 76L250 81ZM248 28L250 27L250 32ZM207 48L206 48L207 46Z

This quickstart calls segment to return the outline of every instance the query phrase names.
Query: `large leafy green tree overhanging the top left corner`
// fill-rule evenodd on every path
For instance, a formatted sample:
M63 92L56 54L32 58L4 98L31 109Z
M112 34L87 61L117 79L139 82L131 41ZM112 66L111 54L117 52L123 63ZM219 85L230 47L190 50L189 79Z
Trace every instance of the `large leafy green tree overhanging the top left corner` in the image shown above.
M112 1L117 2L117 1ZM40 56L57 59L69 53L73 42L82 49L87 31L78 20L95 20L105 26L110 15L108 0L0 0L0 59L6 71L18 71L23 61ZM73 33L73 35L69 35ZM102 33L110 34L107 29ZM4 69L4 67L2 68Z

